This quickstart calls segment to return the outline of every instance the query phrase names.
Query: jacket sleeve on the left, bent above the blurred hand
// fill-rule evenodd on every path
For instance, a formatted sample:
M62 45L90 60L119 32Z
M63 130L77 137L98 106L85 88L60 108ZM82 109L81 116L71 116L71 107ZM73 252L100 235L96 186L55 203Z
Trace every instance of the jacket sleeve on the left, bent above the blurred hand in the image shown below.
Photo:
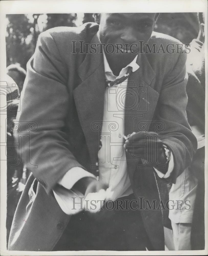
M84 168L70 152L64 131L69 111L67 80L67 66L51 34L45 31L27 63L15 137L18 142L29 132L29 146L19 143L18 151L29 156L26 167L48 194L68 170L76 166ZM28 131L34 124L36 128Z

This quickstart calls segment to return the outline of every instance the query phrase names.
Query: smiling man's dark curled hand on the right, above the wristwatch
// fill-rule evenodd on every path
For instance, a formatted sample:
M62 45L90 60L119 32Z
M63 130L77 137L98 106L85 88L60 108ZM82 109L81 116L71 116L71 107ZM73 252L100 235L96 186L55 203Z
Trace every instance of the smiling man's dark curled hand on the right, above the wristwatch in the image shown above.
M143 164L146 163L149 167L155 167L156 162L166 165L165 149L157 133L134 132L127 137L124 147L126 148L126 152L132 156L142 157L141 161ZM167 172L166 168L162 171Z

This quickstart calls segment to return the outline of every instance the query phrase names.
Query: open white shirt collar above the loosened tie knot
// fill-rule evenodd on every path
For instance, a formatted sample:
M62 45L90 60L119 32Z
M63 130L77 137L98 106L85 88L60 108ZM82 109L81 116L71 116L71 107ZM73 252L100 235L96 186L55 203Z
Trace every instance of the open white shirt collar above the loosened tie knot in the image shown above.
M128 70L128 67L132 67L132 72L136 71L136 70L139 68L139 65L136 63L137 57L138 57L138 55L136 55L135 58L133 59L133 61L130 62L126 67L122 68L121 72L120 72L119 75L116 77L116 76L113 74L113 72L112 72L112 70L111 70L111 68L110 68L110 66L109 66L109 64L108 64L108 61L107 61L107 59L106 59L105 52L104 52L104 53L103 53L103 59L104 59L104 70L105 70L105 76L106 76L106 78L107 78L108 80L112 80L112 81L113 81L113 80L116 80L117 78L121 78L121 77L123 77L123 76L126 74L126 72L127 72L127 70Z

